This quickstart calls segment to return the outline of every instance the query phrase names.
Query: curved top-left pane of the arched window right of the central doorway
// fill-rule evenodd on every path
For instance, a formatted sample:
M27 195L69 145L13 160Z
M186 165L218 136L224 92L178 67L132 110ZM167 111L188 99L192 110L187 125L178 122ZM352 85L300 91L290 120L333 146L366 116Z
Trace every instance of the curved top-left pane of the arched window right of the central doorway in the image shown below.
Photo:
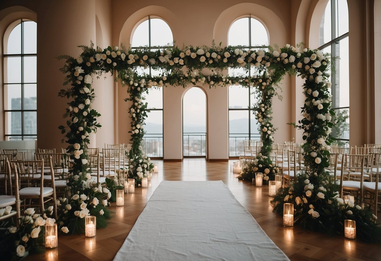
M227 43L231 46L249 45L249 18L241 18L235 21L229 28Z

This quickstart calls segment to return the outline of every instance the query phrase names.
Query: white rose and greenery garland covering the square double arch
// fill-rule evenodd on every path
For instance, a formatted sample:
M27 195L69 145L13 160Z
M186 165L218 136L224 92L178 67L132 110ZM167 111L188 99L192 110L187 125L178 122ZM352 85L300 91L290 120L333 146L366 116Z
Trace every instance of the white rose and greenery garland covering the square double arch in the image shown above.
M168 47L161 48L162 51L160 48L157 51L151 51L147 48L127 51L123 48L111 48L110 46L106 49L97 48L95 50L93 44L90 48L80 47L83 48L83 53L77 59L70 56L59 57L66 59L66 64L61 71L67 74L66 83L71 83L73 86L60 92L62 97L74 99L69 103L71 108L67 109L66 116L70 118L67 121L67 127L60 126L60 129L62 129L62 133L68 129L66 134L67 143L69 143L67 153L74 163L74 175L82 173L84 177L86 174L87 161L83 159L86 159L88 134L95 132L96 128L100 127L96 123L96 117L99 114L90 110L90 104L94 98L94 90L91 88L93 76L96 73L100 75L102 72L114 72L114 70L118 72L117 77L121 83L128 86L130 97L126 100L133 101L129 113L132 119L131 132L134 132L131 135L134 151L130 154L130 161L132 160L130 171L133 172L134 177L141 177L151 167L150 164L147 164L149 163L148 158L144 158L140 148L144 135L142 127L144 127L144 117L146 117L147 111L146 104L142 103L144 100L142 93L147 91L146 88L201 83L208 84L210 88L232 84L265 86L261 93L261 104L257 108L256 117L261 122L261 136L264 142L264 148L261 152L266 156L269 148L271 148L271 134L274 132L274 127L271 124L271 97L275 91L271 89L271 86L279 83L286 72L296 73L305 79L303 88L306 101L302 108L304 118L299 121L298 126L295 126L304 131L305 161L309 167L309 172L306 175L314 187L319 184L318 178L325 175L324 168L328 166L330 155L328 134L333 126L331 118L334 117L335 112L331 108L328 92L328 88L330 88L328 82L330 60L321 51L307 48L301 50L300 46L295 48L290 45L283 48L269 48L269 51L247 51L240 46L221 48L221 44L220 46L213 44L211 47L196 48L192 46ZM137 73L137 67L148 66L163 69L165 75L152 77ZM248 69L252 66L259 74L267 71L269 79L266 75L263 77L222 75L222 71L228 67ZM213 73L204 75L202 73L203 68L210 68ZM83 106L80 107L80 104ZM79 146L74 147L75 144L79 144ZM145 165L147 167L144 167ZM328 180L328 182L331 181ZM324 192L321 193L324 194ZM285 196L286 194L283 197L280 196L282 201L277 201L278 204L274 203L277 206L276 209L282 207ZM295 200L295 198L289 196L286 201L288 200Z

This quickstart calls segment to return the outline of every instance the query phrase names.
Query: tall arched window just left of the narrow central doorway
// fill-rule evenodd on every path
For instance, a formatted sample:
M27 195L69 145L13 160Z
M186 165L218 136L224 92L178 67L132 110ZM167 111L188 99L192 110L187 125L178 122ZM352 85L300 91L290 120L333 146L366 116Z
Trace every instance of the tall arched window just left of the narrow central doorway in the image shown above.
M173 45L173 35L168 24L160 18L148 16L139 24L132 36L132 49L146 46L152 50ZM139 68L139 73L161 74L161 70ZM145 121L143 150L151 158L163 158L163 88L152 88L146 95L150 112Z

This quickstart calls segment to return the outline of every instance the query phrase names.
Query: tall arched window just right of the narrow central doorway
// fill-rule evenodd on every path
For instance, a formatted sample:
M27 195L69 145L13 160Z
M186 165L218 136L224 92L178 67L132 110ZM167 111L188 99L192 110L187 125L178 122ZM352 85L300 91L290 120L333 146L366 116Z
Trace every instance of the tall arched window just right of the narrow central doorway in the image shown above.
M268 46L266 28L251 16L236 20L229 29L228 44L253 50ZM267 48L265 48L267 49ZM251 75L253 70L229 69L229 75ZM229 156L244 154L244 140L259 140L258 122L250 108L256 103L254 88L229 86Z

